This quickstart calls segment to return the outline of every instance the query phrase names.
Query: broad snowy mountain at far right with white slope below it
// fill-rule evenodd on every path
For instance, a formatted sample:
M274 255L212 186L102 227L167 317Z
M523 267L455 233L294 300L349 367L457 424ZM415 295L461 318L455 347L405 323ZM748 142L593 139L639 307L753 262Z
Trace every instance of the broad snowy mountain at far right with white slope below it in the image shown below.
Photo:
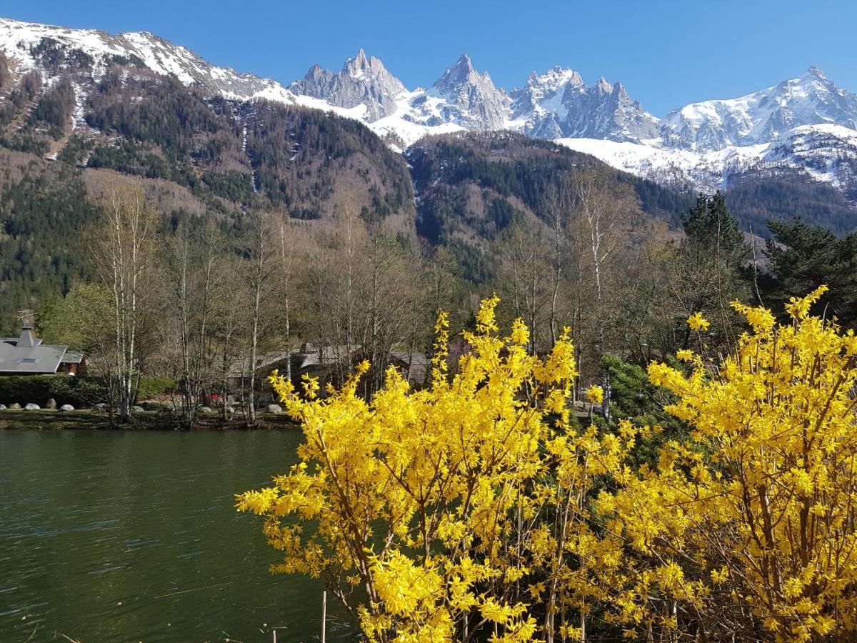
M788 168L857 201L857 94L836 87L817 67L738 99L671 111L656 139L558 142L659 183L712 190L747 171Z

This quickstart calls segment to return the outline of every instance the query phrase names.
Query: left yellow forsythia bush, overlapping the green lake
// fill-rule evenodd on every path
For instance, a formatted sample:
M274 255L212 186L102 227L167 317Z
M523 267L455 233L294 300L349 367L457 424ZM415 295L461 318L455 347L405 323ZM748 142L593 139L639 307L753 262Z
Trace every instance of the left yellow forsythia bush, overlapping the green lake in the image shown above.
M577 449L602 448L596 436L548 447L558 433L574 433L570 331L563 329L546 357L530 355L524 322L500 336L498 303L496 297L482 302L475 331L464 334L471 350L456 369L447 368L448 315L437 315L423 390L409 388L391 368L381 390L363 400L358 382L368 362L339 388L328 385L325 396L309 376L297 389L282 376L270 379L302 426L300 462L272 486L237 496L237 508L264 517L268 543L282 555L273 571L373 588L369 600L359 592L350 598L368 640L451 643L460 640L462 616L476 622L480 612L502 625L508 643L533 640L528 604L497 589L525 586L551 556L566 556L547 528L532 533L542 527L537 517L548 513L549 502L577 502L573 494L618 466L633 439L609 436L589 477ZM559 499L553 480L545 479L554 457L561 463ZM588 515L568 520L584 525ZM536 523L521 534L522 543L539 544L530 559L516 560L507 548L516 516ZM431 555L418 555L423 548ZM617 547L611 550L618 560Z

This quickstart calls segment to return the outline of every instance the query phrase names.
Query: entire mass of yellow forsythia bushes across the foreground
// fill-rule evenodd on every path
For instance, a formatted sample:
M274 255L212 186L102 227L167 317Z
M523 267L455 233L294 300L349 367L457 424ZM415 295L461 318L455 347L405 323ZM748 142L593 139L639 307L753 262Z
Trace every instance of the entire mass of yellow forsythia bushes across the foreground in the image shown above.
M323 398L274 374L301 461L237 507L264 516L273 571L324 578L369 640L846 640L857 338L809 315L822 292L787 325L735 303L749 330L721 364L650 365L689 430L656 462L632 456L657 426L572 428L567 332L531 356L496 298L455 375L440 315L425 390L391 369L362 400L367 364Z

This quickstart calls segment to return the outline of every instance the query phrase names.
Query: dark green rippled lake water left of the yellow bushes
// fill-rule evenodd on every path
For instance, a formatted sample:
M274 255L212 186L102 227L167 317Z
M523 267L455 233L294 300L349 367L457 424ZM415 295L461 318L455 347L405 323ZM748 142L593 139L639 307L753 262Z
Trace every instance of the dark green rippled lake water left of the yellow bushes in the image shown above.
M0 431L0 641L318 640L321 582L234 495L296 460L285 431ZM328 601L328 640L354 640Z

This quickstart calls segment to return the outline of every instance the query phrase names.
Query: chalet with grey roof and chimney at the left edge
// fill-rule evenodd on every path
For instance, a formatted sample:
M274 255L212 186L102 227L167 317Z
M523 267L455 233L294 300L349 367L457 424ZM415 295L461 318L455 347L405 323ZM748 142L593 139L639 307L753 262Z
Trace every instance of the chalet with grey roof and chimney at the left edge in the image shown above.
M26 322L17 337L0 338L0 376L69 375L86 370L83 353L68 346L42 344Z

